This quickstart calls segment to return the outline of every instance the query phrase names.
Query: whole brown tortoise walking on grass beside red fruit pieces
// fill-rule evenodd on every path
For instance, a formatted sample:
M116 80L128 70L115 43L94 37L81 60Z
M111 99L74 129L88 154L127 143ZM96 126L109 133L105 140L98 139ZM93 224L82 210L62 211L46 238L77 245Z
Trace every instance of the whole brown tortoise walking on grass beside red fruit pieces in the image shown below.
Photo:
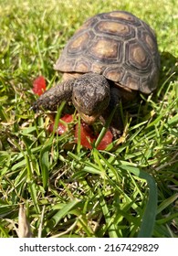
M63 80L33 104L34 111L57 111L72 101L85 123L104 124L120 101L140 91L150 94L158 84L160 57L154 31L137 16L112 11L90 17L68 40L54 69ZM115 138L123 122L116 108L110 123Z

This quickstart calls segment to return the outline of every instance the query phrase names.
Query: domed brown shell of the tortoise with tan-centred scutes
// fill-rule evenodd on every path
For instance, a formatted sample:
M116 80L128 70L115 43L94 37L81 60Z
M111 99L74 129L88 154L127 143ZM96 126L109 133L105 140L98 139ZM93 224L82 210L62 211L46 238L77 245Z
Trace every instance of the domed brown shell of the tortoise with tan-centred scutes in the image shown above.
M68 40L55 69L102 74L117 86L151 93L160 57L151 27L125 11L93 16Z

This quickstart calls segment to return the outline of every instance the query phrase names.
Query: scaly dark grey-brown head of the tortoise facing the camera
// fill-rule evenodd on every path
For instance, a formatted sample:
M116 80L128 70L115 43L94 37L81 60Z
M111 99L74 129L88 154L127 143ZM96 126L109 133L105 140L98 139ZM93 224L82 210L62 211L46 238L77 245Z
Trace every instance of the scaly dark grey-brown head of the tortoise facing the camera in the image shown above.
M87 73L75 80L72 102L85 123L94 123L110 102L110 84L102 75Z

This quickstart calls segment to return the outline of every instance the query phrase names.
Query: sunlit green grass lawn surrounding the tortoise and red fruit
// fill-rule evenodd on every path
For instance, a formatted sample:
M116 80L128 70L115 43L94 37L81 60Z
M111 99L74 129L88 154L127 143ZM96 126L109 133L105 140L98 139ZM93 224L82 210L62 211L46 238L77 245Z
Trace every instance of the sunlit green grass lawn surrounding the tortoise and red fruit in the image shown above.
M178 237L177 1L44 2L0 0L0 237L17 237L19 205L34 237ZM87 150L72 128L47 133L46 116L30 111L32 81L43 75L51 87L68 38L116 9L156 31L159 88L123 107L127 136L116 149Z

